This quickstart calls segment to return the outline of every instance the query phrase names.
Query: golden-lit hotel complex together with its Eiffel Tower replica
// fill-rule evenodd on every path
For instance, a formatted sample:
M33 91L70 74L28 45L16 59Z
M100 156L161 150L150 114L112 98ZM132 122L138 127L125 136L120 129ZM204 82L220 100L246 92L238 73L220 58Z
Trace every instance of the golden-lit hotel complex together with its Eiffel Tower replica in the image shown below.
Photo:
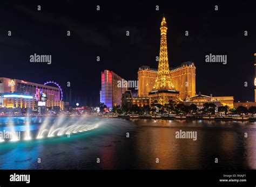
M160 31L158 69L149 66L140 67L138 70L138 97L133 97L131 91L128 90L123 94L122 105L128 107L133 104L138 106L151 105L152 103L164 105L173 100L185 105L196 104L198 107L203 107L204 103L214 103L217 106L233 108L233 96L212 97L200 93L196 95L196 66L193 62L184 62L178 67L169 69L167 25L164 17L161 21Z

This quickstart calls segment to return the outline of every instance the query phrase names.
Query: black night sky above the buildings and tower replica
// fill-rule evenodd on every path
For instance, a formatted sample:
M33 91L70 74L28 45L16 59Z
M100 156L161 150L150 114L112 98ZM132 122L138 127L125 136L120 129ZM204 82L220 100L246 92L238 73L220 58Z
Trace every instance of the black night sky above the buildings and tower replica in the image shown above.
M157 68L163 13L169 64L176 67L190 60L196 64L197 93L254 100L252 1L1 1L0 77L56 81L64 98L71 89L80 103L98 104L100 71L109 69L126 80L137 80L139 66ZM52 64L31 63L34 53L52 55ZM206 63L210 53L227 55L227 64Z

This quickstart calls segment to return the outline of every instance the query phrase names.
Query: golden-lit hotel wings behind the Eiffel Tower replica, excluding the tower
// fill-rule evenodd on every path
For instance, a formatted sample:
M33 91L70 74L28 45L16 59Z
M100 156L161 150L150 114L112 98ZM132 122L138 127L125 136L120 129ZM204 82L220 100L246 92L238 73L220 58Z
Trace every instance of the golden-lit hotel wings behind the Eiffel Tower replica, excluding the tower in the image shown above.
M170 75L174 88L179 91L179 97L185 105L196 104L198 107L203 107L204 103L214 103L216 106L227 105L230 109L233 108L233 96L213 97L212 95L201 95L201 92L196 94L196 66L193 62L183 62L178 67L170 68ZM140 67L138 71L139 97L132 98L132 95L129 94L132 98L130 102L143 106L149 96L149 92L153 90L156 78L157 69L149 66Z

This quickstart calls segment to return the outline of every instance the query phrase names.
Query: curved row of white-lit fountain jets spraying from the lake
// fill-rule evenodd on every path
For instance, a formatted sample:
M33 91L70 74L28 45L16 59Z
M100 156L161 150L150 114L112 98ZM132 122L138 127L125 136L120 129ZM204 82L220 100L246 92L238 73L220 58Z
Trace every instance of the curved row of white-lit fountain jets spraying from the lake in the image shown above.
M26 117L7 117L6 124L0 126L0 131L9 132L11 138L0 136L0 142L31 141L85 133L95 130L107 120L111 119L88 116L69 117L63 115L58 117L30 117L29 114ZM20 134L17 134L17 132Z

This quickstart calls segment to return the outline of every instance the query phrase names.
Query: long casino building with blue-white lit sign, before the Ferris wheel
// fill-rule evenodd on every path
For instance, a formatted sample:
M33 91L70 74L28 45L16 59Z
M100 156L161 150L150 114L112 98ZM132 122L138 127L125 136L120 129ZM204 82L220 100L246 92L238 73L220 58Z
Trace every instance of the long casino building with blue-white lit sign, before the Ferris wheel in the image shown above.
M42 105L64 109L60 89L49 85L0 77L0 96L0 107L30 107L34 110Z

